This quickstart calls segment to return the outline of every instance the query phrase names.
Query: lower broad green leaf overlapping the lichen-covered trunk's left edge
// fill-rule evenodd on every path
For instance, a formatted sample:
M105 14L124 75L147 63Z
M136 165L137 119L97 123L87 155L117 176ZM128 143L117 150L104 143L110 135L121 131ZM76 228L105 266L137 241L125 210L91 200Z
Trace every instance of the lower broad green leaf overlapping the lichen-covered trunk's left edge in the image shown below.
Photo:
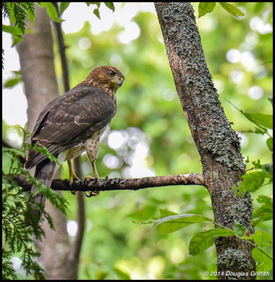
M209 231L196 233L189 243L189 254L198 255L207 250L215 242L215 237L235 235L234 231L216 228Z

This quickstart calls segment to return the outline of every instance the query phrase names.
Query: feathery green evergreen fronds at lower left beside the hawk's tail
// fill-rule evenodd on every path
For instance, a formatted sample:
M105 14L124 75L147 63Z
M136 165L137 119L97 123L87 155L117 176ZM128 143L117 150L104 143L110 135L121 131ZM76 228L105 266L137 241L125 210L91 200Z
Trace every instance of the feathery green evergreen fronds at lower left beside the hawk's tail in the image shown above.
M18 157L25 157L25 151L30 147L25 140L30 134L24 130L24 142L21 149L10 149L3 147L4 157L10 159L10 166L7 171L2 173L2 232L3 232L3 278L15 279L16 271L13 268L12 257L20 254L21 269L28 276L33 274L35 279L44 279L44 271L37 264L36 258L40 255L33 249L32 236L41 239L45 232L41 228L41 222L37 222L34 209L39 209L42 213L41 221L45 219L49 226L54 229L54 223L49 214L45 211L42 204L35 202L37 192L42 193L55 207L61 212L66 213L66 200L57 192L40 183L30 175L28 170L23 168L23 164ZM43 154L49 156L48 152L43 150ZM54 158L55 159L55 158ZM21 175L28 178L29 183L37 187L37 192L31 194L30 191L24 191L19 187L13 176Z

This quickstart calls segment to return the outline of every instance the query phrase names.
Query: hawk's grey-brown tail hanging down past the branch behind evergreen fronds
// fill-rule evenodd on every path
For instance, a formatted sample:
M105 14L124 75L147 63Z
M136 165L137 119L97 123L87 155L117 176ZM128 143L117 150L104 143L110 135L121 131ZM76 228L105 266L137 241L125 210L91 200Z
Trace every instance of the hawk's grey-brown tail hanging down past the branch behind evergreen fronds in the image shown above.
M50 186L52 183L52 176L54 175L54 167L55 162L50 161L49 159L45 159L40 164L37 164L35 168L35 178L40 180L46 186ZM32 186L31 192L32 194L37 190L35 185ZM46 198L42 194L37 194L35 196L35 202L38 204L45 204ZM40 219L41 212L39 209L35 209L35 214L37 214L38 219Z

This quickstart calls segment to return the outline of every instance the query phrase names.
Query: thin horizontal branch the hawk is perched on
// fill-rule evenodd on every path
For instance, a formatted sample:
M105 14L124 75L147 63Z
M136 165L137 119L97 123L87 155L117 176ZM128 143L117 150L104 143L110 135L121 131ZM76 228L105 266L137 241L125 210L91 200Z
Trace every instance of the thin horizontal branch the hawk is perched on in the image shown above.
M18 185L25 190L30 190L31 184L28 178L23 176L14 176ZM68 179L54 179L52 180L51 188L53 190L63 191L111 191L111 190L139 190L145 188L172 186L172 185L202 185L204 186L204 177L200 174L179 174L176 176L154 176L144 178L105 178L105 179L91 179L86 183L84 180L74 180L71 185Z

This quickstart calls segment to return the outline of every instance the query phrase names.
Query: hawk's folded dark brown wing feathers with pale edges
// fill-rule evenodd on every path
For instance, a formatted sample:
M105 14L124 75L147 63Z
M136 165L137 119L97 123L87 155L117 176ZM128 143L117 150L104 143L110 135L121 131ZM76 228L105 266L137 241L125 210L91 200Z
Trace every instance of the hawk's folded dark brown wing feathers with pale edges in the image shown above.
M66 99L57 99L44 118L37 121L40 124L35 125L32 138L33 142L44 145L54 155L104 128L115 114L115 103L103 90L81 87L64 95ZM47 159L44 154L29 151L25 168L32 168L44 159Z

